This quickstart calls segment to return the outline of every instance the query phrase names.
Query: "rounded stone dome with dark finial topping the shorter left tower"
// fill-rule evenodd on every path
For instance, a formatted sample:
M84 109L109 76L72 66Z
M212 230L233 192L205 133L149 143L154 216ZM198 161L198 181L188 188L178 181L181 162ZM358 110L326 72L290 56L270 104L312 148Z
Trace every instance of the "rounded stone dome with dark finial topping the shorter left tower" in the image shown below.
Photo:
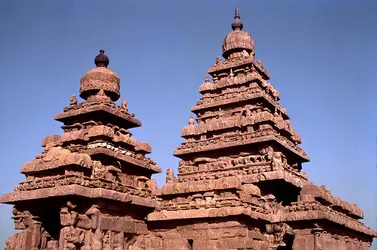
M111 98L117 101L120 97L120 79L111 69L107 68L109 59L101 50L94 62L96 68L89 70L80 80L80 97L87 99L89 96L96 95L101 89Z

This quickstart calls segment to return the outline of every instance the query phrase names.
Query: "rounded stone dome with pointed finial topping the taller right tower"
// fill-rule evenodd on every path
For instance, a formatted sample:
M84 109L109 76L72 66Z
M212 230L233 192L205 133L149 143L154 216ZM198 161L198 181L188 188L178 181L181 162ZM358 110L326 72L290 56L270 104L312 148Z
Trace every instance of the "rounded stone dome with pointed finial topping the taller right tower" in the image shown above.
M254 52L254 40L249 33L242 31L242 28L243 23L237 8L232 23L233 31L225 37L223 42L222 51L224 58L228 58L233 51L246 50L249 53Z

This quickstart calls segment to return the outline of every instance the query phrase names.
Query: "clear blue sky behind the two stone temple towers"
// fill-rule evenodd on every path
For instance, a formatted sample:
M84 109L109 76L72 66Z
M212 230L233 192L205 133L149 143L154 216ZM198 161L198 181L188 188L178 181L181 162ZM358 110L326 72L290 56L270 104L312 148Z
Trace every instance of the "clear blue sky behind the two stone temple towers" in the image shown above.
M263 2L263 3L262 3ZM377 4L373 1L0 1L0 193L12 191L100 48L143 123L151 158L177 169L190 107L234 8L311 158L311 181L376 228ZM159 185L165 174L155 176ZM13 233L0 206L0 244ZM377 249L377 248L376 248Z

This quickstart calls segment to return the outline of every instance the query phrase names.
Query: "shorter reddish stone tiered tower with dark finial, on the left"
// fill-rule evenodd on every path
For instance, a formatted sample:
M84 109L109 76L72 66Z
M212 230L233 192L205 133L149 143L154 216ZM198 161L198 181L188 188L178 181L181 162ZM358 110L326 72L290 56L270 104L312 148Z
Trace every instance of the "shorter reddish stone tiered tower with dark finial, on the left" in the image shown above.
M8 250L128 249L137 235L148 233L144 218L157 205L161 172L145 155L148 143L137 142L129 129L141 122L120 97L120 80L101 50L96 67L80 82L79 103L55 116L63 135L49 135L44 151L21 168L26 180L1 197L14 205L16 233Z

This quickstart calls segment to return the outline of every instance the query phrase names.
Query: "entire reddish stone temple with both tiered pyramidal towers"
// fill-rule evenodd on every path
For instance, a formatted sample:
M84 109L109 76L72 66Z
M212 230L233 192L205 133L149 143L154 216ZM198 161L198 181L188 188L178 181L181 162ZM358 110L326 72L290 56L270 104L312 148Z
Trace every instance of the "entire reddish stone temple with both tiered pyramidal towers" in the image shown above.
M370 249L377 233L358 221L360 208L301 172L309 158L238 9L232 29L182 129L178 174L168 169L162 189L101 50L80 81L84 101L71 96L55 116L64 133L43 139L25 180L1 197L19 230L5 249Z

